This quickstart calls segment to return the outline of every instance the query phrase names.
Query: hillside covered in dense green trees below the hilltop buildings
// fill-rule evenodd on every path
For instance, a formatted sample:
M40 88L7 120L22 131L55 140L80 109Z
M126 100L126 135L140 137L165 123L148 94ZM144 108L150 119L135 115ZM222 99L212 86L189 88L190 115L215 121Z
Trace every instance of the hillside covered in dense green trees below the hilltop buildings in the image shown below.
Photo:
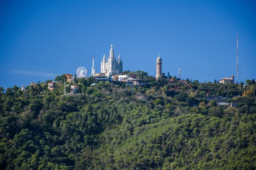
M243 88L187 79L190 89L172 77L140 78L150 84L133 93L122 83L90 86L92 77L67 96L63 81L53 91L39 83L0 92L0 169L256 169L254 80ZM207 102L207 92L238 108Z

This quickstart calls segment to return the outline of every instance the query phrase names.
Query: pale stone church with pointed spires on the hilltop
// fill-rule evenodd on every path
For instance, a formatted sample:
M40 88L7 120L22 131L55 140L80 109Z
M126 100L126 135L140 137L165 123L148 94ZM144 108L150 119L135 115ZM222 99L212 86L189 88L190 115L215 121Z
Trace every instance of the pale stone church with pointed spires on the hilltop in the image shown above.
M113 45L111 45L110 54L108 56L108 61L106 61L105 54L103 60L101 61L100 72L106 76L120 74L122 72L122 60L120 54L118 55L118 60L116 61L116 56L114 56Z

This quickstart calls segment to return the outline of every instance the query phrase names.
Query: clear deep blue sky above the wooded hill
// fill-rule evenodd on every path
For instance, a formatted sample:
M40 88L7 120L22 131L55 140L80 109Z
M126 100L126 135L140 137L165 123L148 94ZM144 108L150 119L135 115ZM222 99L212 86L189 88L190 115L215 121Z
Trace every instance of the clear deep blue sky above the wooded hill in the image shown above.
M103 54L120 54L123 69L213 82L256 78L255 0L1 0L0 86L100 72ZM88 76L87 75L87 76Z

